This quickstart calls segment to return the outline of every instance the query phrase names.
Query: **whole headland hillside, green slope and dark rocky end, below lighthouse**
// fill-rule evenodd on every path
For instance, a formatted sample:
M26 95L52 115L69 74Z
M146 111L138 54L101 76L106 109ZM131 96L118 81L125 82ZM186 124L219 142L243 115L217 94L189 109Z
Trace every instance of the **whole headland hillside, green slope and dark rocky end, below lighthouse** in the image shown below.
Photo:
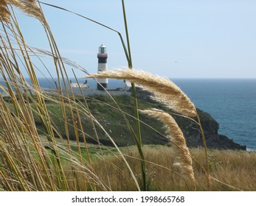
M115 101L122 109L122 113L118 110L117 105L114 104L108 96L93 96L90 99L86 99L91 114L100 122L104 129L111 135L111 138L117 143L118 146L130 146L134 145L134 139L131 135L128 125L125 123L125 118L131 124L136 132L136 121L134 116L134 108L131 106L134 103L133 97L131 96L115 96ZM49 102L47 104L49 111L52 113L52 119L55 122L56 127L59 132L63 134L63 138L66 138L65 130L63 127L63 118L60 112L60 105ZM150 109L157 108L161 110L167 110L162 104L139 99L139 108ZM167 110L168 111L168 110ZM170 110L168 112L171 112ZM204 113L198 110L198 114L201 118L201 124L204 129L204 133L207 140L208 148L215 149L246 149L246 146L241 146L238 143L233 142L231 139L224 135L218 134L218 122L215 121L210 114ZM124 118L125 116L125 118ZM187 139L187 145L190 147L202 146L201 134L198 127L193 121L183 118L180 116L173 116L176 118L179 127L181 127L184 132L184 136ZM75 116L77 118L77 116ZM96 126L97 135L95 133L94 126L91 124L91 119L80 113L80 119L83 124L83 129L86 132L86 138L88 143L97 143L97 136L100 143L111 146L112 143L106 137L105 132L100 127ZM159 121L149 118L145 115L140 115L141 131L142 131L142 143L143 144L159 144L165 145L169 142L165 138L164 125L160 124ZM72 117L68 115L67 121L72 123ZM77 121L75 119L75 121ZM40 121L36 120L38 127L41 127ZM159 132L154 131L149 126L153 127ZM41 128L42 129L42 128ZM75 139L75 133L72 127L69 127L69 134L71 139ZM161 133L161 134L159 134ZM80 140L82 141L82 135L80 134Z

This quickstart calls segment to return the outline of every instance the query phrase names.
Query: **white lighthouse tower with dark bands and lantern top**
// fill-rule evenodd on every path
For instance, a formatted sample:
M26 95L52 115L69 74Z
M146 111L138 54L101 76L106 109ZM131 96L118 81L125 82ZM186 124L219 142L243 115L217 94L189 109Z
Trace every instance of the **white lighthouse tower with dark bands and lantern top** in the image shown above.
M97 57L98 57L98 73L99 73L100 71L105 71L108 68L107 49L103 44L99 47L99 53L97 54ZM97 83L98 90L104 90L104 88L108 88L108 79L97 79L97 81L98 81Z

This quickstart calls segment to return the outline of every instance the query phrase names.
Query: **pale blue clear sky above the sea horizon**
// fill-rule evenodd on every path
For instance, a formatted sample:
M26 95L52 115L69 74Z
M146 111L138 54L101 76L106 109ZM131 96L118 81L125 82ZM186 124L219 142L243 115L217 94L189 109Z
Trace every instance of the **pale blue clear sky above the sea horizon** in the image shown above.
M41 1L111 26L125 38L121 0ZM63 10L42 8L63 57L96 73L103 43L108 69L128 65L117 33ZM170 78L256 78L256 1L126 0L125 8L134 68ZM30 46L49 50L39 21L21 12L18 21Z

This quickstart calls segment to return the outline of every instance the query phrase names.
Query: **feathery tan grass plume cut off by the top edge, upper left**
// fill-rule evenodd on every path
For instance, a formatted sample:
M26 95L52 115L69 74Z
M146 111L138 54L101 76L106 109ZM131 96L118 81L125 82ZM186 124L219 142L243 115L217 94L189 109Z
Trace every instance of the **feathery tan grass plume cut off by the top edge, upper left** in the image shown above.
M42 15L40 7L35 2L35 0L6 0L7 4L18 7L27 15L38 18L40 21L44 21L44 17Z

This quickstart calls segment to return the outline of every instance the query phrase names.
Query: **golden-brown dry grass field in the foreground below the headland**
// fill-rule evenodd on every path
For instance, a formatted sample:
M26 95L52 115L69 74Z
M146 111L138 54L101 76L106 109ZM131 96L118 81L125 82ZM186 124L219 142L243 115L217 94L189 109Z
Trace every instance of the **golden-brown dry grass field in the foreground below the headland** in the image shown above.
M148 190L151 191L190 191L193 185L185 182L181 177L176 166L173 166L176 159L176 152L167 146L144 146L145 160L147 162ZM204 162L203 149L191 149L190 153L200 163ZM136 149L131 147L125 149L128 155L128 163L139 177L139 155ZM109 155L105 160L105 168L102 167L103 161L98 160L94 163L95 171L100 180L107 182L113 191L134 191L136 188L131 184L125 165L120 157ZM229 150L210 151L210 188L205 180L204 171L197 163L193 163L196 179L197 191L255 191L256 190L256 153L255 152L236 152ZM106 173L105 171L108 171ZM218 181L216 181L217 179Z

